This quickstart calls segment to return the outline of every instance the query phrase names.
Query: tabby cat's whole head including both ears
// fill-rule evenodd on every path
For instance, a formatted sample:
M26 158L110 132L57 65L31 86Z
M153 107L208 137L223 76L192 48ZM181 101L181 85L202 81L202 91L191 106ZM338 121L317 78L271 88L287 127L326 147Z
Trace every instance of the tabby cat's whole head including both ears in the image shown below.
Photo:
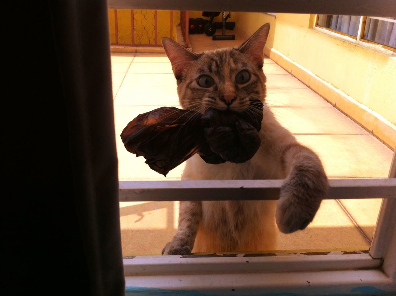
M243 112L250 99L263 101L266 91L263 50L268 31L266 24L238 48L201 54L164 39L181 106L201 113L208 107Z

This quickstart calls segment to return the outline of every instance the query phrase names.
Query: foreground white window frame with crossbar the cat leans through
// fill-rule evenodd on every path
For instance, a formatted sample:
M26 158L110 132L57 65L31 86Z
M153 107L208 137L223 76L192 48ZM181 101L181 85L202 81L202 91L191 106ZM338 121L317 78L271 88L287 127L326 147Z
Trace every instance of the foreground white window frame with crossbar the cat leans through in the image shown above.
M387 0L109 0L109 8L396 15ZM287 4L287 5L286 5ZM385 198L369 252L136 256L124 258L126 294L396 293L396 150L389 179L330 180L330 199ZM120 182L122 201L277 199L282 180ZM243 188L241 188L243 187ZM204 198L203 198L204 197ZM162 246L158 246L161 248ZM315 256L310 256L315 255Z

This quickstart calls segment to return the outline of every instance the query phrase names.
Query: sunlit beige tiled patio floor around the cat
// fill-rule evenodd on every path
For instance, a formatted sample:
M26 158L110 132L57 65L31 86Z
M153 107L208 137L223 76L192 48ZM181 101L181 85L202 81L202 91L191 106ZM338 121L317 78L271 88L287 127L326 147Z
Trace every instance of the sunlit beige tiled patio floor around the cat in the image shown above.
M195 52L242 43L190 36ZM130 120L161 106L179 107L176 82L168 58L161 54L112 54L116 135ZM322 97L266 58L267 102L278 120L297 139L314 149L330 178L386 178L392 151L332 107ZM168 177L150 170L143 157L135 158L117 136L120 180L180 180L183 164ZM368 241L348 217L372 238L381 200L323 201L304 231L279 233L278 250L367 249ZM345 210L340 206L343 205ZM121 202L124 256L160 254L177 229L178 202Z

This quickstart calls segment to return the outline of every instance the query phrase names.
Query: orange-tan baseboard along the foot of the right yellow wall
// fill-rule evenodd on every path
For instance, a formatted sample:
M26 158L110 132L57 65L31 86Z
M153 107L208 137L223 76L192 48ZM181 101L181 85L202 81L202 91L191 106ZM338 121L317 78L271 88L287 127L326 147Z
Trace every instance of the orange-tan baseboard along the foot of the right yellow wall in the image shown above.
M373 136L380 139L390 149L394 150L396 148L396 126L386 118L335 88L308 69L301 67L301 65L295 63L277 50L266 46L264 53L272 61L307 85L311 90L326 99L331 105L360 124L360 126L373 134Z

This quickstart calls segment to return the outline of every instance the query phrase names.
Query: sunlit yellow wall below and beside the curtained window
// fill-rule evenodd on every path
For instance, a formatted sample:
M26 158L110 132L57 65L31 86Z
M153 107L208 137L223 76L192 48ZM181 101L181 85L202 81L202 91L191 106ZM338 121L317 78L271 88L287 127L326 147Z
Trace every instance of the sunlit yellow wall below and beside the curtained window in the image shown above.
M396 124L396 56L312 29L313 16L234 13L236 25L251 34L271 25L267 46L286 55L358 102ZM393 55L393 56L392 56Z

